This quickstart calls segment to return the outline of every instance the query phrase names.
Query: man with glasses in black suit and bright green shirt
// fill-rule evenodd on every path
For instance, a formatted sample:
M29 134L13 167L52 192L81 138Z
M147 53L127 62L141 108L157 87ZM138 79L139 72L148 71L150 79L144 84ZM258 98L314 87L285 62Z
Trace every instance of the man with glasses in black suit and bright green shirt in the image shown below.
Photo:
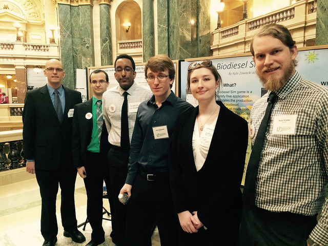
M101 104L108 85L108 74L100 69L94 70L90 74L93 97L74 106L73 161L86 186L87 217L92 228L91 241L87 246L96 246L105 241L102 226L103 182L105 180L109 194L107 153L110 144Z

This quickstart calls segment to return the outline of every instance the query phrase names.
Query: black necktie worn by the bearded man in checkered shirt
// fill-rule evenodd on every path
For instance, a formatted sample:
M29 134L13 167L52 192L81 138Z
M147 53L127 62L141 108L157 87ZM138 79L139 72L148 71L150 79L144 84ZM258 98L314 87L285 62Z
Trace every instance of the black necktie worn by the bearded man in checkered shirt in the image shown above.
M270 93L268 98L268 106L265 109L264 117L261 121L261 125L257 131L257 135L252 148L252 153L247 166L247 172L245 177L245 184L243 190L243 207L245 211L251 210L255 206L255 183L257 177L258 166L260 162L260 156L262 153L263 141L265 133L268 128L268 121L270 119L272 106L277 99L277 94Z

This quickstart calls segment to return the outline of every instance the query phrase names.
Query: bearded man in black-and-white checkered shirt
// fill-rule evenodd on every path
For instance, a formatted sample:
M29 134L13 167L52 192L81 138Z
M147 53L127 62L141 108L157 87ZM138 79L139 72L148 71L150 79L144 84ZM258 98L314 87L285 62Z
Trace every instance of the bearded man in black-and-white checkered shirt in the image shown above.
M263 26L251 52L268 90L252 108L252 145L269 94L278 97L260 155L255 206L243 211L240 245L328 245L328 89L295 70L297 47L282 25Z

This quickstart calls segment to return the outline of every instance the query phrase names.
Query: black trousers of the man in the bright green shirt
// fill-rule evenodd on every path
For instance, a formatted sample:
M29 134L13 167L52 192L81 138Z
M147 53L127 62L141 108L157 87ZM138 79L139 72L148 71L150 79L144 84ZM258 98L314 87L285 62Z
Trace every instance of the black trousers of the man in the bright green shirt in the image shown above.
M103 229L103 184L104 180L107 192L110 192L110 179L106 155L99 153L87 153L86 168L87 177L84 183L87 191L87 216L92 228L91 239L103 241L105 231ZM110 197L110 196L108 196Z

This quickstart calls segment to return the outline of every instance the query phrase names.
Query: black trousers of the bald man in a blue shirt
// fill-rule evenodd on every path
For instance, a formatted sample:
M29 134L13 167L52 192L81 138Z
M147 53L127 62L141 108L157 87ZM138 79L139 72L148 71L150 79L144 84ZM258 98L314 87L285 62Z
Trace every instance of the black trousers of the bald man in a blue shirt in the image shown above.
M58 184L61 190L61 223L65 231L77 229L74 201L76 174L77 170L73 168L72 163L65 163L63 160L56 170L35 170L42 200L41 233L45 240L55 238L58 233L56 218Z

